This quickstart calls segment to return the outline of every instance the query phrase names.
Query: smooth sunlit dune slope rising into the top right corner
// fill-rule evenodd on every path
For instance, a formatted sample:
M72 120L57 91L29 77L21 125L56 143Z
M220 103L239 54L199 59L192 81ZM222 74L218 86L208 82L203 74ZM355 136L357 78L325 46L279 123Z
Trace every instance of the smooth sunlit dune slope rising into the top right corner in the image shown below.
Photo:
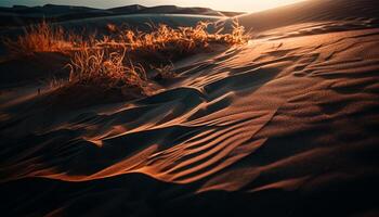
M379 8L376 0L308 0L297 4L282 7L259 13L241 15L240 21L254 30L267 30L293 24L366 21L378 24ZM340 23L340 26L342 23Z

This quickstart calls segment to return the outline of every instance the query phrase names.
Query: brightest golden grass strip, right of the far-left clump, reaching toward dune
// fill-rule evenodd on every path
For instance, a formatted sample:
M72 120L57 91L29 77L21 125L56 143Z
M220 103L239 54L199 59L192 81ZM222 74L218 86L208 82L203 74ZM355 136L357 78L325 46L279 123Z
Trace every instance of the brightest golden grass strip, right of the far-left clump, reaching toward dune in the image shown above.
M151 33L134 31L131 29L119 30L118 38L104 37L97 41L97 46L107 48L127 48L129 52L155 52L171 55L182 55L205 50L211 43L237 44L247 41L245 28L233 22L231 34L220 34L223 29L211 34L207 30L211 23L199 22L194 27L172 28L160 24L153 26ZM116 27L113 25L115 31ZM107 26L109 28L109 26ZM170 56L172 58L172 56Z

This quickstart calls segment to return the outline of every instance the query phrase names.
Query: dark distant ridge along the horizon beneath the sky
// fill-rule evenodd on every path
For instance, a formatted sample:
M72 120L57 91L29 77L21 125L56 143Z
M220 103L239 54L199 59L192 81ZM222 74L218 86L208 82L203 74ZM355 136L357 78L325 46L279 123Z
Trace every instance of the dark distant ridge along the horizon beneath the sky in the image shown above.
M240 12L220 12L208 8L181 8L175 5L144 7L131 4L112 9L44 4L42 7L13 5L0 7L0 26L23 26L42 18L49 22L63 22L100 16L128 14L197 14L210 16L235 16Z

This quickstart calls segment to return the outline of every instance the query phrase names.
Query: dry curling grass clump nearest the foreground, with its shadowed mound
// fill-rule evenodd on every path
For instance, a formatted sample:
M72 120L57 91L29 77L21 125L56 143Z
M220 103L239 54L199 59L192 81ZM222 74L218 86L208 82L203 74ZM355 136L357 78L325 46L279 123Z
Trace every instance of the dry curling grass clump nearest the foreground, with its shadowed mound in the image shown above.
M83 47L73 54L67 67L69 79L52 93L58 106L75 108L147 94L146 72L126 59L126 50Z

